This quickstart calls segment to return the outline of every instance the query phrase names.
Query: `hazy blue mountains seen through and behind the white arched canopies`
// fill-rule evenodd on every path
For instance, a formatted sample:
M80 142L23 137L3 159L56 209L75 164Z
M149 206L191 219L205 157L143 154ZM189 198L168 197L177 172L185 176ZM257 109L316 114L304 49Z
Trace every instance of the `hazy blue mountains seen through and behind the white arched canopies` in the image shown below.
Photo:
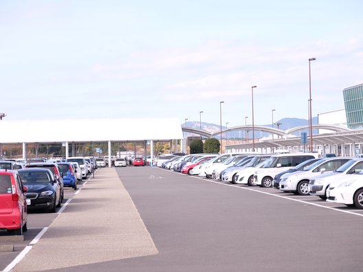
M318 124L318 117L313 117L313 124ZM279 124L279 128L283 131L286 131L289 128L295 128L296 126L307 126L309 125L309 120L305 120L305 119L299 119L299 118L283 118L281 120L278 120L275 122L274 128L277 128L276 124ZM197 121L190 121L190 122L186 122L186 124L182 124L182 126L188 126L190 128L200 128L200 123ZM243 125L243 124L242 124ZM272 124L265 124L263 126L270 126L272 127ZM226 126L222 126L222 130L227 128ZM210 124L210 123L206 123L206 122L201 122L201 129L203 131L208 131L210 133L219 131L221 129L221 126L219 124ZM300 133L305 132L308 133L308 130L306 131L298 131L296 133L293 133L296 136L299 136ZM318 130L314 130L313 134L318 133ZM250 132L249 137L252 137L252 132ZM254 132L255 137L257 138L261 138L261 137L267 137L268 135L270 135L270 133L265 133L265 132L260 132L260 131L255 131ZM191 135L189 135L191 136ZM195 135L197 136L197 135ZM228 138L232 139L232 138L236 138L236 139L241 139L245 137L245 132L244 131L232 131L228 133ZM219 139L219 137L217 137Z

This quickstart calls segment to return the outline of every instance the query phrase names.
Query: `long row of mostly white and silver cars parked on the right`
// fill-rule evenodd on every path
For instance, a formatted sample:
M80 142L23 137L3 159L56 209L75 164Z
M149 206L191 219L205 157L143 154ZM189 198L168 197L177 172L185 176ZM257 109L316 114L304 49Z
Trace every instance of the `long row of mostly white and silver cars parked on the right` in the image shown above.
M316 153L229 157L214 157L195 166L188 174L274 187L283 192L318 196L322 200L363 209L362 157L318 157Z

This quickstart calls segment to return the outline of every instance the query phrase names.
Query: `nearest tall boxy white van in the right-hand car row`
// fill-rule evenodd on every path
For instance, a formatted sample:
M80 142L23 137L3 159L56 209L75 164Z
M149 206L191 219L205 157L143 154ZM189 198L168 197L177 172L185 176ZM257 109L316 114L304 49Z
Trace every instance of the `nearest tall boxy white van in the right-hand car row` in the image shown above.
M254 173L254 184L262 187L272 187L274 185L274 177L279 172L293 168L308 159L318 159L318 153L290 153L272 155L263 167Z

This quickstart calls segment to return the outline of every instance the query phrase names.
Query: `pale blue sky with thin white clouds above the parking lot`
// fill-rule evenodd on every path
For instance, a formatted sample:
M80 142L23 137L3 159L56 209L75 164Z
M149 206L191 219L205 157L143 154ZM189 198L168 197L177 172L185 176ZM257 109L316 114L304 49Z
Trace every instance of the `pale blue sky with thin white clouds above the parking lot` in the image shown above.
M254 124L307 120L309 58L313 116L344 109L342 90L363 83L362 10L361 0L0 1L0 113L231 127L252 124L256 86Z

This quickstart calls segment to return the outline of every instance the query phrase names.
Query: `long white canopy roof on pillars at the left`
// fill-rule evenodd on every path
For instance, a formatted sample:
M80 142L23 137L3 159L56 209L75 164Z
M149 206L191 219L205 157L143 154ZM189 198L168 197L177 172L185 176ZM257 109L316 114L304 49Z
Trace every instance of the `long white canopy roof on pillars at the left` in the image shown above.
M0 121L1 144L170 139L183 139L176 117Z

